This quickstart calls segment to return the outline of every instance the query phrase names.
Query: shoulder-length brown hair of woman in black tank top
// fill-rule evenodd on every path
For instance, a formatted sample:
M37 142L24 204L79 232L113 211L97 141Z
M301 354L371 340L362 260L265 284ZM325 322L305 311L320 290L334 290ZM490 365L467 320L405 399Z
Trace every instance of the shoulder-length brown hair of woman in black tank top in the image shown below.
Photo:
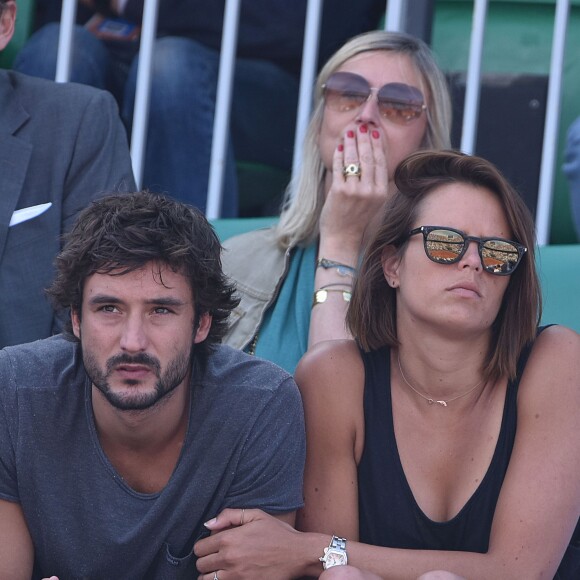
M394 179L397 191L363 252L355 280L347 313L351 333L366 351L398 345L397 291L383 275L384 249L393 246L401 254L405 251L418 207L436 188L448 183L485 187L500 200L514 241L528 249L510 276L492 325L492 340L483 369L492 380L501 376L514 378L517 359L524 346L534 339L542 309L534 256L534 222L524 201L492 163L455 151L414 153L399 164Z

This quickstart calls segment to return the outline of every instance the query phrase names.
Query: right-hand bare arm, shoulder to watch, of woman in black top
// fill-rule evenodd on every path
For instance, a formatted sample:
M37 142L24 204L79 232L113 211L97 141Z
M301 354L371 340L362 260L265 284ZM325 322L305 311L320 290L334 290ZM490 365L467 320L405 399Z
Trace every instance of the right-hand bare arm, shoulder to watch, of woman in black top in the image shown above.
M349 563L383 578L417 578L437 569L470 580L553 578L580 516L579 377L580 336L562 327L545 330L520 382L516 440L486 554L389 549L351 541ZM317 501L327 511L319 521L311 518L309 529L322 530L335 517L322 495ZM308 502L308 491L306 498Z

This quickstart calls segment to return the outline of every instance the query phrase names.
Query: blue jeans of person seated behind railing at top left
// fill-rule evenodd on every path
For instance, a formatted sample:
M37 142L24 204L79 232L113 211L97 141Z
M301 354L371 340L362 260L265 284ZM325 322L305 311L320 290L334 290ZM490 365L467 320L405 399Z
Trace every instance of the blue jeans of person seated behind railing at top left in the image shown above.
M25 74L54 78L59 24L28 40L14 61ZM103 42L77 26L71 81L110 90L130 130L136 89L137 45ZM184 37L156 40L143 187L166 192L205 211L219 53ZM230 144L224 170L223 217L238 213L234 150L243 161L289 170L298 80L263 60L236 61Z

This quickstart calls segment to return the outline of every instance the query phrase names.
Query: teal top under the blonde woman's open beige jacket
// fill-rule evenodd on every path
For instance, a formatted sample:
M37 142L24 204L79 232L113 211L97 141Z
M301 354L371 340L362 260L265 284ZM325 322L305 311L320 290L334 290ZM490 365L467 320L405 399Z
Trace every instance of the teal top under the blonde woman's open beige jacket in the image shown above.
M255 354L289 373L308 348L316 269L316 244L295 248L278 298L264 314Z

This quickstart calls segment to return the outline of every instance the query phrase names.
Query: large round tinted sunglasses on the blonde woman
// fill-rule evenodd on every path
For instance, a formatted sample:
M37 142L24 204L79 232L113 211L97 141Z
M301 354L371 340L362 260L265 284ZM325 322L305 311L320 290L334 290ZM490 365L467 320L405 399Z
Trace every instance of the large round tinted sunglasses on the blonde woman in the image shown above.
M387 83L377 89L371 87L364 77L354 73L333 73L322 85L322 90L325 105L342 113L358 110L376 92L381 116L398 125L418 119L427 108L423 94L416 87Z

